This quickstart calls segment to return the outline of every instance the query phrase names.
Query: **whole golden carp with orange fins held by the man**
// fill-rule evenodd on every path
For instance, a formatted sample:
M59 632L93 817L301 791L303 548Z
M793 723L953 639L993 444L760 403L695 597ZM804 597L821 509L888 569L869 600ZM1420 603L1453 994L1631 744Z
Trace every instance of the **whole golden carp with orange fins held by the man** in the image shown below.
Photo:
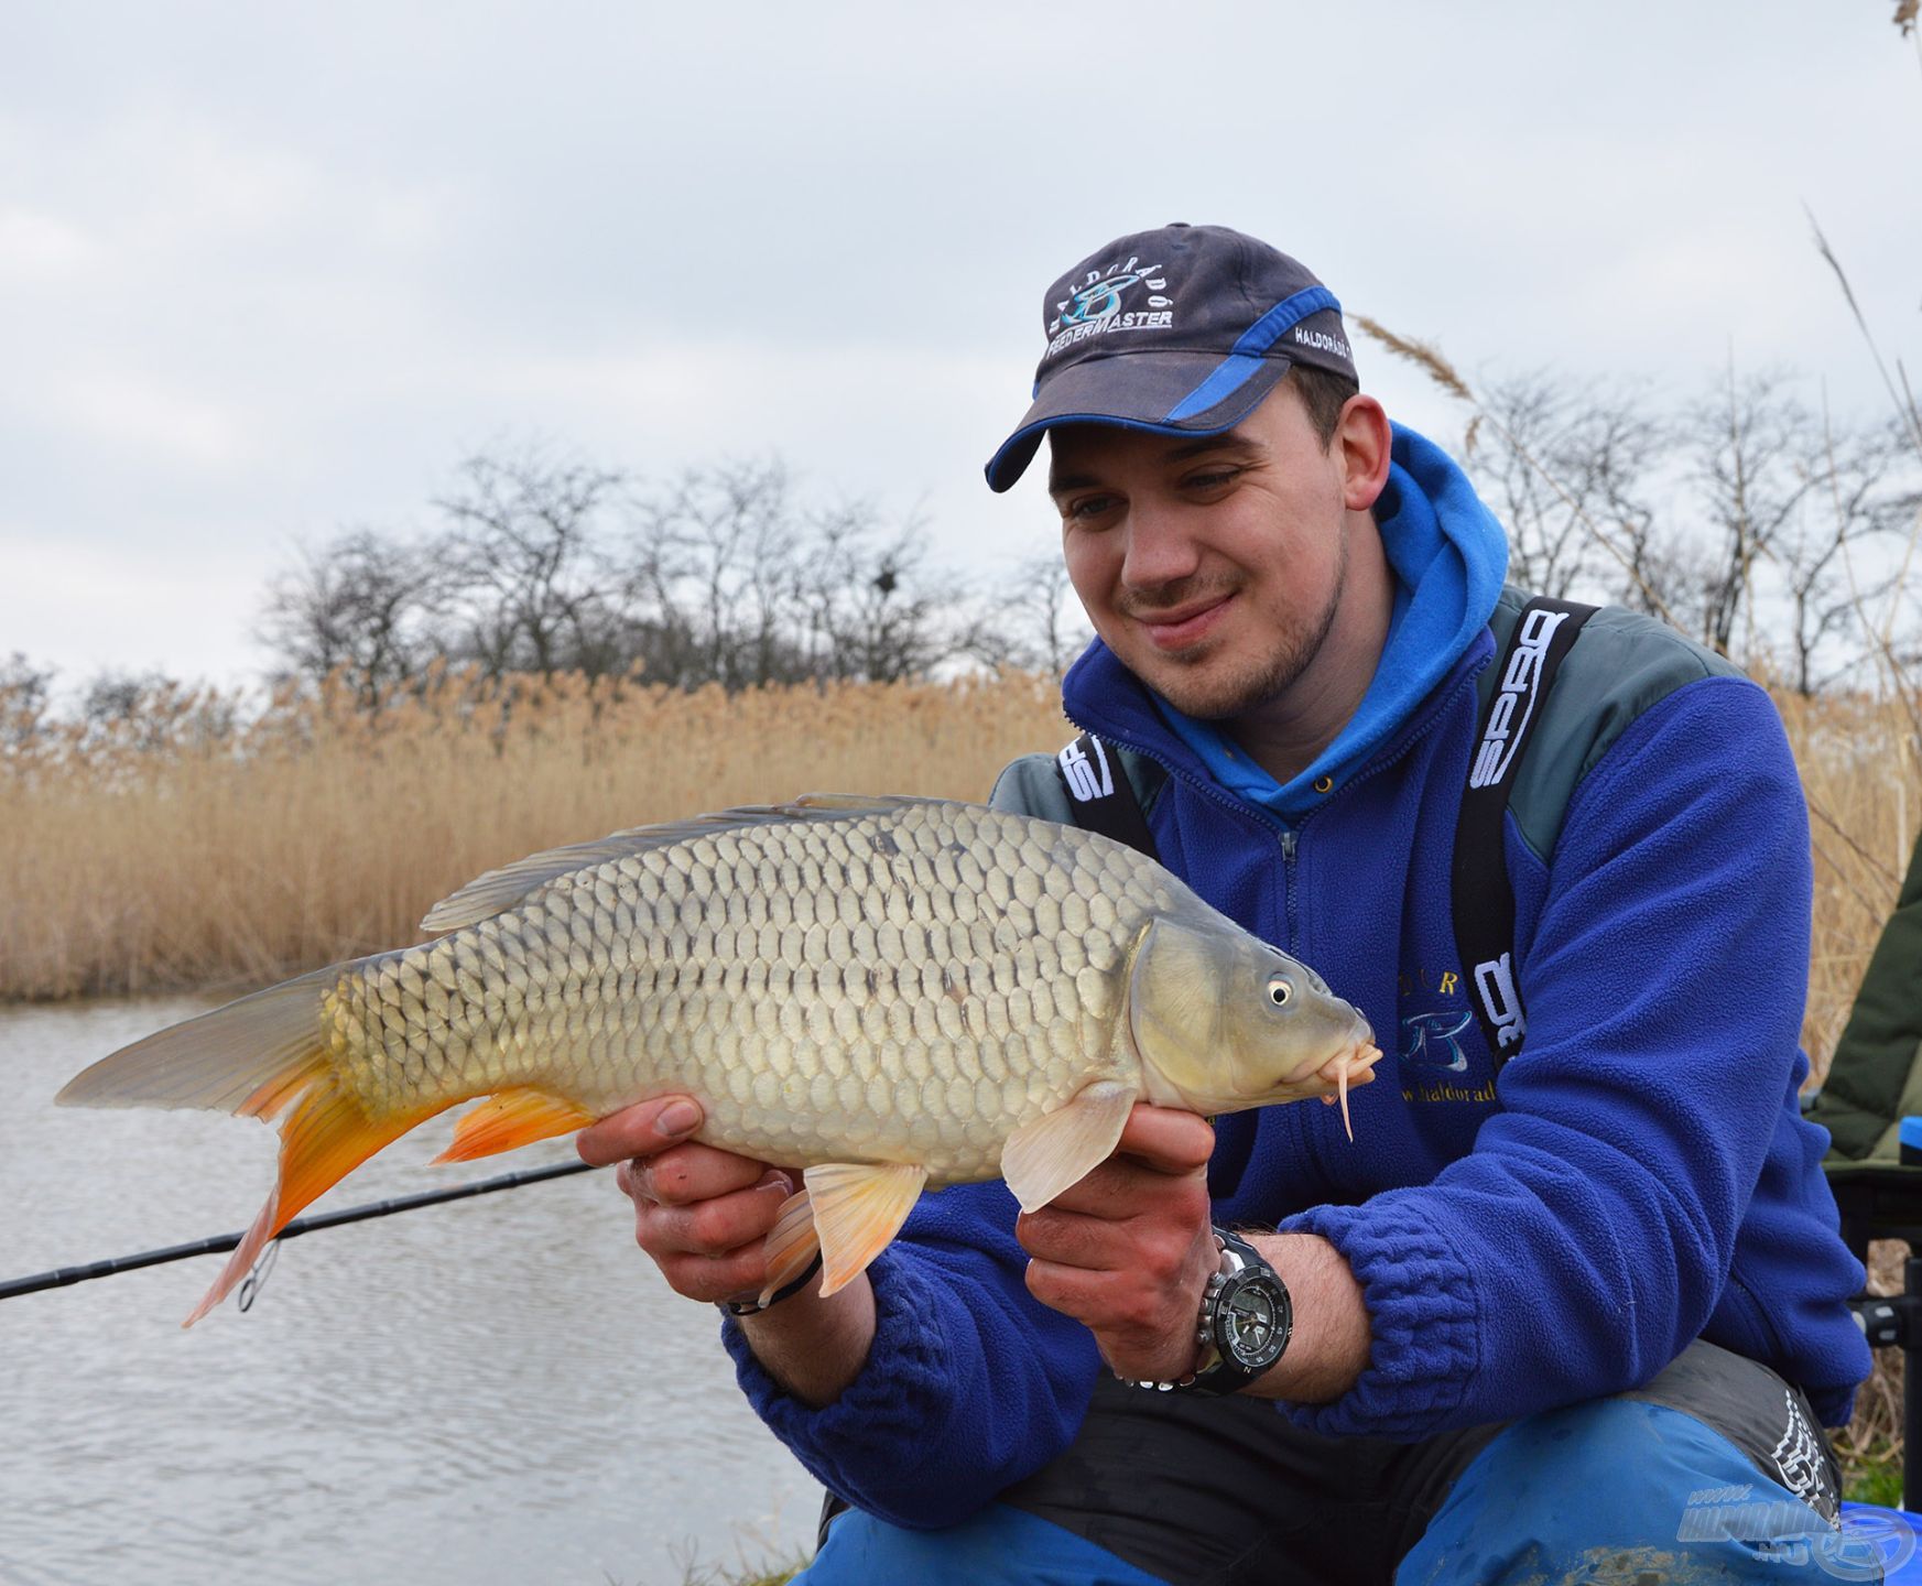
M121 1048L60 1102L281 1117L281 1173L190 1326L359 1163L473 1098L438 1161L694 1096L694 1136L803 1184L769 1292L830 1294L924 1186L1028 1211L1138 1100L1342 1100L1380 1057L1320 977L1136 850L974 804L813 794L490 871L438 940L338 963Z

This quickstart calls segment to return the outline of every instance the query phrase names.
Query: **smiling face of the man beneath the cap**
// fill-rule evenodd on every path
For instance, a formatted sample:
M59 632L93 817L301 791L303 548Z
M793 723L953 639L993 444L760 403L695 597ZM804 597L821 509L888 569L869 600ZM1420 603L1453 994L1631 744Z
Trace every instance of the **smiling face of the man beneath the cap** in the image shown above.
M1286 384L1224 434L1063 425L1049 446L1069 579L1128 671L1205 721L1301 677L1342 602L1347 517L1340 448Z

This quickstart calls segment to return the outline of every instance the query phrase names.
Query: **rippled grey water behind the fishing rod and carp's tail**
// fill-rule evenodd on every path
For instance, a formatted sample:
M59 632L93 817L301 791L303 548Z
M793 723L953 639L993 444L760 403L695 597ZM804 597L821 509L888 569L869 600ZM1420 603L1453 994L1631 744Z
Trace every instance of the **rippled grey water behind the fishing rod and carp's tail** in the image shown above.
M0 1009L0 1278L246 1227L275 1136L56 1109L194 1000ZM313 1209L569 1161L427 1167L440 1119ZM0 1301L0 1580L623 1582L798 1553L819 1488L748 1411L715 1313L636 1250L611 1173Z

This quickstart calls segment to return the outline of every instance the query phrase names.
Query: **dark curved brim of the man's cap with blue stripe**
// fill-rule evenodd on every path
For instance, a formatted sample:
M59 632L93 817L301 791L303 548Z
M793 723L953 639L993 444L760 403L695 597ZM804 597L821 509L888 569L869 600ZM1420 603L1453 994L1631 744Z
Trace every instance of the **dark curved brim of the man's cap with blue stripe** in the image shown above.
M1242 363L1245 369L1226 369ZM1149 434L1219 434L1255 411L1292 359L1222 359L1219 352L1119 352L1084 358L1051 375L986 467L988 488L1007 490L1034 461L1042 436L1057 425L1115 425ZM1228 379L1224 379L1224 375ZM1194 398L1222 394L1201 411ZM1186 409L1186 411L1184 411ZM1182 413L1172 419L1170 413Z

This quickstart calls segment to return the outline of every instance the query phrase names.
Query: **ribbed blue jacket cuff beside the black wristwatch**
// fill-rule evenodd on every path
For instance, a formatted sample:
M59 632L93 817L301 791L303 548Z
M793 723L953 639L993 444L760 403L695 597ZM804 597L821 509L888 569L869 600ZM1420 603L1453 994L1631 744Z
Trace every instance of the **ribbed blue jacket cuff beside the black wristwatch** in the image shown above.
M1415 1442L1457 1425L1480 1369L1474 1276L1422 1209L1418 1192L1363 1205L1317 1205L1280 1225L1320 1234L1347 1257L1374 1342L1355 1386L1332 1403L1284 1403L1297 1426L1328 1438Z

